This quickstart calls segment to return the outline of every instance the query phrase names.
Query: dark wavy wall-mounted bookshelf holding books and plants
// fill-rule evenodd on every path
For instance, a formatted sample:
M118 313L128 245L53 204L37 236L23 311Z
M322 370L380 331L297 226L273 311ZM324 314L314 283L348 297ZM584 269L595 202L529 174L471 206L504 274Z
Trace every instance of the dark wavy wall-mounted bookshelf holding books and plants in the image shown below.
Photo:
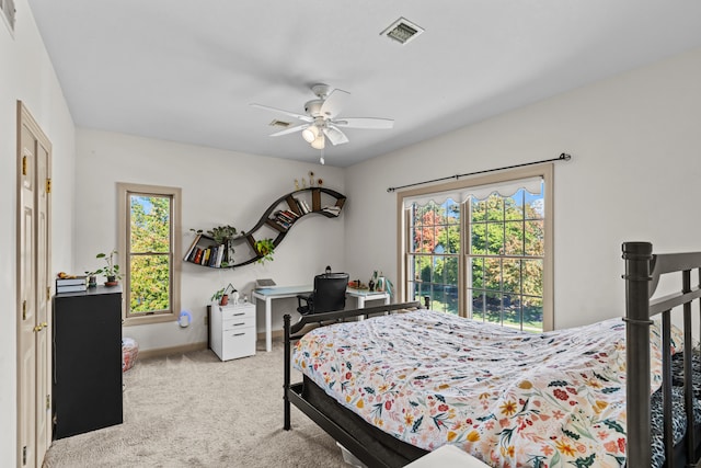
M302 185L306 186L303 178ZM231 269L253 262L272 261L274 250L300 218L308 214L336 218L341 215L345 202L345 195L326 187L296 190L273 202L249 231L237 231L232 226L220 226L206 233L202 229L191 229L195 232L195 239L183 260L214 269ZM261 240L255 238L256 233L265 236L266 231L273 236L268 235ZM240 248L243 251L237 253L239 259L235 261L233 244L237 244L237 251Z

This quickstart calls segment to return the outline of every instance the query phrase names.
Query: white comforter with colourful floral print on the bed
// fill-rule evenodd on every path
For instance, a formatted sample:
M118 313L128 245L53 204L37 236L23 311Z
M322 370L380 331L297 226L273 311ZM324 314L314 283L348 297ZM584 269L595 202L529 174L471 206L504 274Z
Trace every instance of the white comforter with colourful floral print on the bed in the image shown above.
M660 351L651 350L652 392ZM453 444L494 467L625 461L620 318L530 334L418 310L313 330L292 362L369 423L428 450Z

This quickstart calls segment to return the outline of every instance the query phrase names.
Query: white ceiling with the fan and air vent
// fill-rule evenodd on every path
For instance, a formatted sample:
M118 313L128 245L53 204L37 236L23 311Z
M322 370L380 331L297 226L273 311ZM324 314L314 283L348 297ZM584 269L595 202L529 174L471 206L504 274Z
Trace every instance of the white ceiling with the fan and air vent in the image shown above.
M701 46L697 0L28 3L78 126L317 162L249 104L303 114L323 82L342 117L395 121L327 144L338 167ZM381 36L400 16L425 32Z

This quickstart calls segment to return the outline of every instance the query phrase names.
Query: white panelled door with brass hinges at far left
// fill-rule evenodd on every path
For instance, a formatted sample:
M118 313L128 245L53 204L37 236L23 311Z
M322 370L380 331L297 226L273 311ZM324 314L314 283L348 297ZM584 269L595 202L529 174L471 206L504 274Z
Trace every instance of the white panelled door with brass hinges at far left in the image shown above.
M50 419L50 144L18 102L18 465L41 467Z

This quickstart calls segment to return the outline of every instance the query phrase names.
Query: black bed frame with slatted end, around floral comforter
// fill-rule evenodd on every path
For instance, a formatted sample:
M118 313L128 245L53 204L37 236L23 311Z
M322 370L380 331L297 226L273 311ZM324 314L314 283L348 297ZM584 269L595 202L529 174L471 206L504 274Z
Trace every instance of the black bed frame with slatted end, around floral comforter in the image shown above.
M653 254L650 242L624 242L622 244L625 261L625 318L627 322L627 467L650 467L651 449L651 395L650 395L650 327L652 318L662 316L662 350L670 349L670 329L673 309L681 307L683 316L683 375L691 376L691 355L693 353L691 333L691 305L700 299L701 308L701 252ZM691 272L697 270L699 285L691 286ZM655 293L659 278L668 273L681 273L681 289L677 293L651 299ZM371 467L402 466L400 463L388 461L387 457L378 454L377 447L368 447L367 443L358 441L356 436L338 424L333 414L319 410L304 398L304 384L291 384L290 358L291 344L301 338L299 333L310 323L336 321L349 317L367 316L418 308L418 303L394 304L366 309L326 312L314 316L302 316L300 320L290 324L291 317L286 315L285 321L285 424L289 431L290 404L295 404L335 441L348 449L360 461ZM701 318L701 313L699 315ZM699 330L701 336L701 329ZM664 445L665 466L701 466L701 436L699 424L693 418L693 388L691 378L685 378L685 411L687 414L687 430L683 441L675 446L671 429L671 356L663 352L663 414L664 414ZM347 410L346 410L347 411ZM368 424L369 426L369 424ZM392 459L390 457L390 459ZM681 460L681 461L679 461Z

